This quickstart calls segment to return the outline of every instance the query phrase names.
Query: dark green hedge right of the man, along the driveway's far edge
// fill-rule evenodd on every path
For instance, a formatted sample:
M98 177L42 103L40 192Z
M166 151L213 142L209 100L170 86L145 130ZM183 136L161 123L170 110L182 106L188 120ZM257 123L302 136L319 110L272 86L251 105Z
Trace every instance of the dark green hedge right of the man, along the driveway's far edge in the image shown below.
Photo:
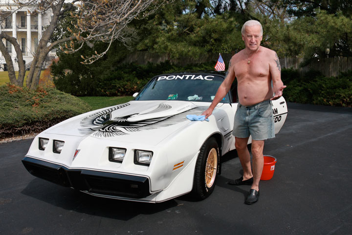
M284 97L289 102L352 107L352 71L336 77L325 77L318 71L301 76L297 71L282 71L287 88Z

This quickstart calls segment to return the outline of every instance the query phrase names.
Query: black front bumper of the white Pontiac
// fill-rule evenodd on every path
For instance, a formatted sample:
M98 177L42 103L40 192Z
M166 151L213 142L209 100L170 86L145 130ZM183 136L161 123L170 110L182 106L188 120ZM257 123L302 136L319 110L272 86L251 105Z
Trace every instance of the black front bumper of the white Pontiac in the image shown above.
M29 173L38 178L80 191L127 198L144 198L151 195L148 177L69 169L30 157L24 157L22 163Z

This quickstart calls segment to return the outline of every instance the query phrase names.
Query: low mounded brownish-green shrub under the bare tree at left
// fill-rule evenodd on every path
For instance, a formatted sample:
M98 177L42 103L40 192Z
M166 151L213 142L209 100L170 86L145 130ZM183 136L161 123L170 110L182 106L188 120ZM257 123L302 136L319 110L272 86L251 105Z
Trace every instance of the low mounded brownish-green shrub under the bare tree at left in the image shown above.
M0 86L0 137L40 132L67 118L88 112L83 100L54 88L36 91Z

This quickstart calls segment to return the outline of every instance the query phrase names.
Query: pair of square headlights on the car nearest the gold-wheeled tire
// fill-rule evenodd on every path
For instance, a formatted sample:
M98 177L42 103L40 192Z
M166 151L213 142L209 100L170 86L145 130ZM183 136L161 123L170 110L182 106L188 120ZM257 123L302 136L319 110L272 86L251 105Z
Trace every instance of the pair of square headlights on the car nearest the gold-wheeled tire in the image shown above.
M126 156L126 148L109 147L109 161L122 163ZM134 164L150 165L153 158L152 151L134 150Z

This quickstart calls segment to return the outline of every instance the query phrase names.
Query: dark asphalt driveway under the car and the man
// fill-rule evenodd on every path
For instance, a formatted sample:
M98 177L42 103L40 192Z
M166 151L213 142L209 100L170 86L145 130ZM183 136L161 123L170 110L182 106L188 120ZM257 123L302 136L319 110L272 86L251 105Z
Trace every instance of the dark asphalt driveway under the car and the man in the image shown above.
M274 177L245 205L249 186L236 152L223 159L213 194L160 204L93 197L30 175L21 160L31 140L0 144L0 234L348 235L352 234L352 109L288 103L288 117L264 154Z

